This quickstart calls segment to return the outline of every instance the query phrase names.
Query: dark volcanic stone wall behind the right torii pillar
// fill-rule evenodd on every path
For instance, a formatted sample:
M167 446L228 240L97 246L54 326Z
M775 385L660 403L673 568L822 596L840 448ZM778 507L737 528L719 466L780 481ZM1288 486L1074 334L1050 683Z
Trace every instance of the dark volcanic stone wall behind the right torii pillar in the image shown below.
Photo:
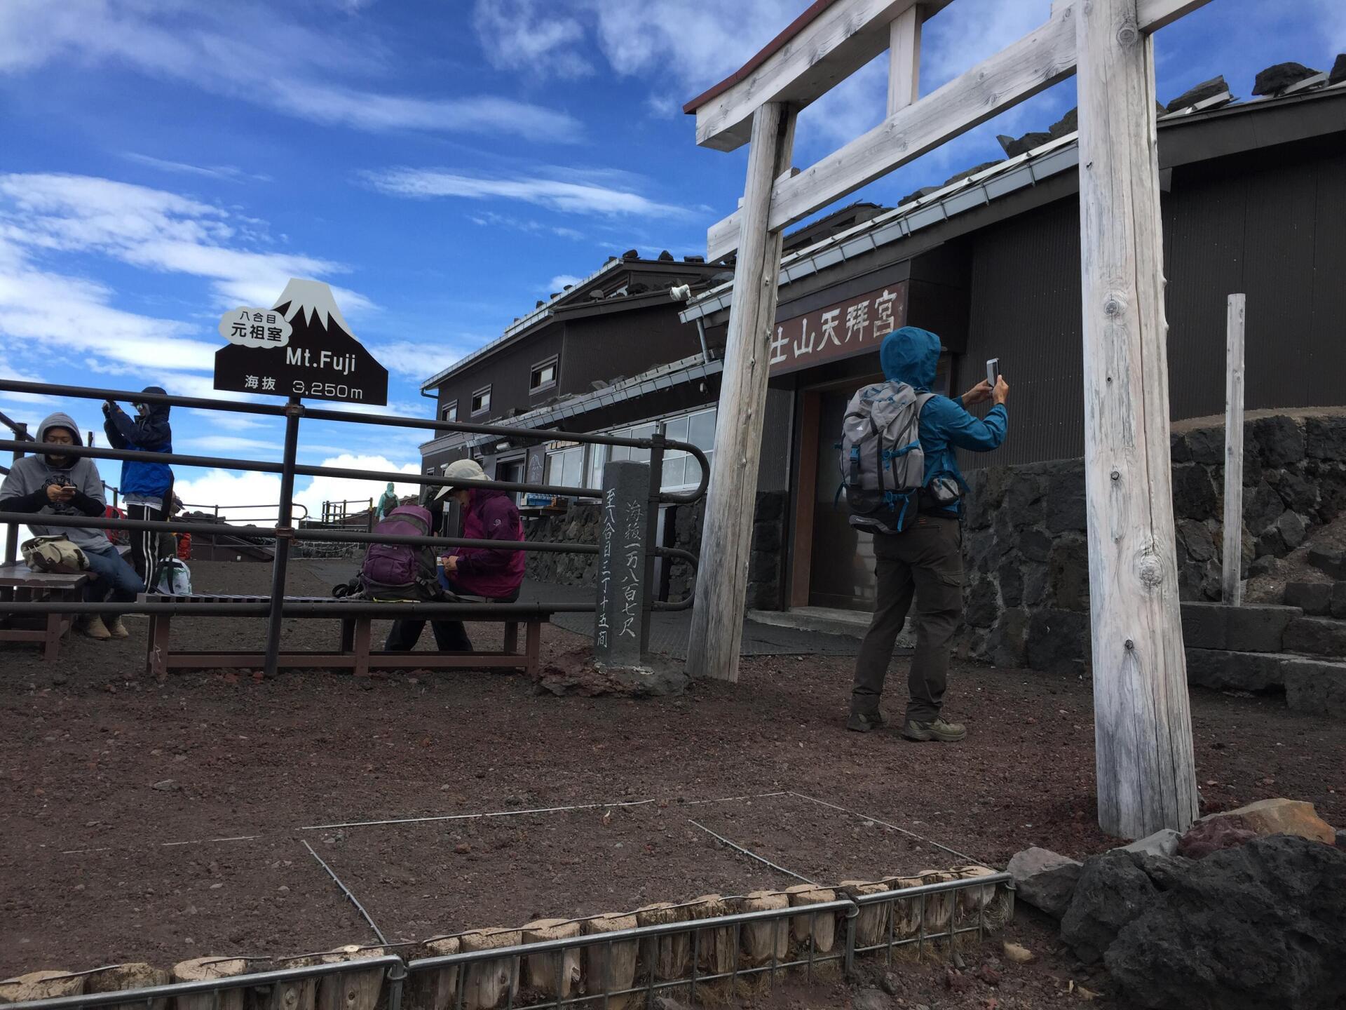
M1183 599L1218 599L1222 424L1175 431L1174 516ZM966 626L958 654L997 667L1089 667L1082 459L969 474ZM1244 428L1244 578L1346 512L1346 416L1277 413Z

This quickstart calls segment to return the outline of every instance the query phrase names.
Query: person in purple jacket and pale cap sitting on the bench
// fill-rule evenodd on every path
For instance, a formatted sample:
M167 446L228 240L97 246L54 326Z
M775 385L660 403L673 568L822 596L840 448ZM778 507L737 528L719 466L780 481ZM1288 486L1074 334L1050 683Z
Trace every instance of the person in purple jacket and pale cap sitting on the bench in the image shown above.
M444 477L462 481L485 481L486 473L475 459L456 459ZM522 540L524 520L507 492L494 487L454 487L446 485L440 497L450 496L463 509L464 540ZM440 584L458 597L483 597L490 603L513 603L524 584L522 551L497 551L490 547L455 547L440 559ZM440 652L471 652L472 642L462 621L431 621L435 645ZM394 621L388 633L389 652L409 652L420 641L424 621Z

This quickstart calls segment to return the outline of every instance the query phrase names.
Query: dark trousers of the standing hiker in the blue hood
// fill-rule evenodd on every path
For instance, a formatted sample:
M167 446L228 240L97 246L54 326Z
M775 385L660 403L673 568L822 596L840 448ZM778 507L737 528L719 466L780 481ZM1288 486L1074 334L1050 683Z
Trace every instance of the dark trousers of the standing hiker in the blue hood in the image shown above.
M878 711L892 646L915 598L907 719L931 722L944 707L949 650L962 622L962 531L957 518L921 516L902 533L875 535L874 555L878 601L855 663L851 711Z

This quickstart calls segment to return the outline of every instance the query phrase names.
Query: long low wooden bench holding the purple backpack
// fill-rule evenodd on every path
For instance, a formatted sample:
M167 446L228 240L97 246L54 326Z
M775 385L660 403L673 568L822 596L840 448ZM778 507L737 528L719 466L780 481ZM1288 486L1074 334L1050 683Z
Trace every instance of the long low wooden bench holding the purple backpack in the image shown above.
M167 595L141 593L139 599L145 603L269 603L271 597L248 597L221 593L194 593L191 595ZM334 597L285 597L287 603L342 603ZM349 601L367 603L367 601ZM191 614L179 614L190 618ZM281 652L279 667L328 667L351 669L355 676L367 676L371 669L446 669L499 667L522 669L529 675L538 672L541 654L542 625L551 619L551 613L536 611L518 614L501 611L490 603L474 605L471 614L463 618L470 622L499 622L505 625L505 642L499 652L385 652L371 649L370 626L377 617L334 617L330 614L300 615L326 621L341 621L341 644L338 652L293 650ZM172 614L151 613L149 633L145 638L145 671L155 677L167 676L171 669L256 669L264 665L262 652L186 652L174 650L170 632ZM297 619L297 618L296 618ZM384 618L388 619L388 618ZM432 619L432 618L427 618ZM456 619L448 617L446 619ZM518 652L518 626L525 626L525 648ZM429 633L429 629L427 629Z

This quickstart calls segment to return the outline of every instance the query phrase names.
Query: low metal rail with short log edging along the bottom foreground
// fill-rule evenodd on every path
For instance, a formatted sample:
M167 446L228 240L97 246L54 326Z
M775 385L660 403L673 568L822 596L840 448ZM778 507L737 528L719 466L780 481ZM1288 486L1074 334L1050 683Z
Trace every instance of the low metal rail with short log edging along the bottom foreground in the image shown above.
M822 886L820 890L837 889ZM993 914L996 921L988 918L993 906L996 908ZM899 913L903 921L900 931L898 927ZM634 913L611 914L631 916ZM567 920L564 925L603 917L590 916L587 920ZM386 1006L386 1010L401 1010L404 1005L408 1005L409 1010L464 1010L470 999L468 990L478 984L478 976L483 975L489 966L491 968L503 966L501 972L503 991L489 1005L501 1006L503 1003L506 1010L514 1007L520 1010L525 1007L556 1007L557 1010L571 1006L610 1007L614 1002L618 1006L631 1006L637 1001L649 1009L654 1006L656 995L668 990L677 990L680 995L686 992L688 1002L695 1005L699 986L728 987L730 992L734 994L740 980L774 978L782 971L800 968L812 980L814 972L824 966L836 966L844 975L849 976L853 974L856 956L867 953L883 952L886 963L891 964L894 956L905 949L914 948L917 957L921 959L927 949L942 947L949 960L958 963L961 956L958 953L960 937L975 933L977 940L983 940L989 931L1004 925L1012 917L1014 878L1008 873L989 873L981 877L960 877L898 890L883 890L875 894L849 896L843 893L833 901L813 905L637 925L629 929L581 933L537 943L412 957L405 963L394 955L385 953L380 957L233 975L210 982L187 982L30 1001L13 1003L9 1010L94 1010L94 1007L113 1005L133 1007L137 1003L144 1003L147 1010L153 1010L155 1006L163 1006L163 1003L156 1005L155 1001L171 997L219 992L241 987L265 990L335 972L366 972L380 968L385 971L386 994L376 994L370 999L369 1007L359 1006L355 1010L374 1010L376 999L378 1006ZM806 929L801 929L801 920L806 920ZM839 924L840 931L837 931ZM765 943L760 932L763 928L766 929ZM755 929L759 932L754 933ZM820 943L820 937L828 937L829 931L830 943ZM728 933L727 944L723 943L725 933ZM752 952L744 949L744 933L754 937L754 947L759 949ZM805 933L805 937L801 939L801 933ZM468 935L470 932L464 932L431 937L415 944L392 945L411 945L424 949L427 944L436 940L451 940ZM874 939L875 935L876 939ZM871 943L864 941L867 936L872 939ZM672 978L661 978L660 962L664 960L666 949L661 941L686 944L686 952L681 957L669 959L680 960ZM707 952L703 951L703 944L713 944L713 947ZM760 949L763 945L770 948L769 952ZM594 948L602 948L602 956L584 959L583 955ZM625 952L626 962L622 975L630 978L616 978L614 966L618 963L615 955L619 949ZM633 951L634 957L626 956ZM703 957L703 953L707 956ZM721 963L725 953L730 955L728 964ZM521 986L521 964L529 966L529 978L545 974L548 976L545 984ZM540 971L533 970L534 964ZM595 964L600 966L602 978L594 978ZM576 967L580 970L579 978L575 976ZM447 979L447 992L446 984L436 984L444 979ZM436 997L427 999L427 992L435 992ZM385 995L386 1002L384 1002ZM258 1001L258 1005L267 1002ZM221 1001L217 997L218 1005ZM472 1002L472 1005L485 1003Z

